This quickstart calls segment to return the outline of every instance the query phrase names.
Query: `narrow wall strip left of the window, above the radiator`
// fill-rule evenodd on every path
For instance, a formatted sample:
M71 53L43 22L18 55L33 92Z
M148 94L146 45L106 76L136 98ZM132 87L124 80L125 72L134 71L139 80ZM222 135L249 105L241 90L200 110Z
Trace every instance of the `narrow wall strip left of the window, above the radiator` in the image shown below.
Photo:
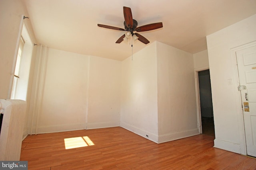
M20 33L21 16L24 9L19 0L0 1L0 98L7 99L8 91L11 81L11 74L13 72L14 56L16 51L16 44ZM9 12L4 12L9 11Z

